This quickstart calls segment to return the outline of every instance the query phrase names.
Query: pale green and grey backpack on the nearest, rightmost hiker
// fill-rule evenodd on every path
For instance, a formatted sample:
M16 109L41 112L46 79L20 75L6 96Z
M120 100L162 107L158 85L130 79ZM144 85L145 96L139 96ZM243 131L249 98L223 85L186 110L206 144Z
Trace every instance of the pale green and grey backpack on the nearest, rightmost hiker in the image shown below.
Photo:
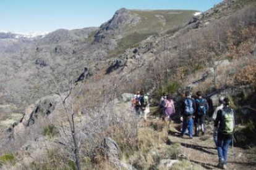
M233 134L234 132L234 111L233 109L223 109L220 132L222 134Z

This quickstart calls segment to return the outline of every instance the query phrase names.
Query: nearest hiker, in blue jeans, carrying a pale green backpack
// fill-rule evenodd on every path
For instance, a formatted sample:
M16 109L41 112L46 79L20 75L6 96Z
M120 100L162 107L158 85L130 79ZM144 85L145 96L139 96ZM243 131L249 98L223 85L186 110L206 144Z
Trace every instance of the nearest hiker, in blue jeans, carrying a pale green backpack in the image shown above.
M217 112L214 126L213 134L218 131L218 167L226 169L228 148L231 142L233 142L235 127L235 113L232 108L229 108L229 99L227 97L223 99L223 108Z

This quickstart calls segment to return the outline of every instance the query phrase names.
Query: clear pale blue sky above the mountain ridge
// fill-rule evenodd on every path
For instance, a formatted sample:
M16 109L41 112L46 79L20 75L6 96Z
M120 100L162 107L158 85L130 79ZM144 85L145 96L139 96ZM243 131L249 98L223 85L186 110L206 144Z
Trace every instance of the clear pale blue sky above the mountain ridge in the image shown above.
M0 31L39 32L100 26L116 10L194 9L204 11L222 0L1 0Z

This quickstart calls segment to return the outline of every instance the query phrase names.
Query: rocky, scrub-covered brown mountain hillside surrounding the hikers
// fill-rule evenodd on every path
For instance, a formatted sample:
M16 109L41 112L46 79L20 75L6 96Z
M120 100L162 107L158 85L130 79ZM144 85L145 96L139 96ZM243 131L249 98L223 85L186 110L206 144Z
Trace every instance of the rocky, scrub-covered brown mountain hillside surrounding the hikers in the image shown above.
M211 102L208 116L219 95L230 97L241 124L235 151L244 156L230 167L254 169L255 7L226 0L196 17L186 10L121 9L100 28L57 30L2 53L2 168L75 169L78 151L84 169L163 170L165 159L180 161L173 169L216 169L216 151L205 148L212 146L211 128L190 142L176 136L179 123L168 129L130 110L135 91L149 92L152 105L167 92L179 116L184 91L200 90ZM127 103L119 102L124 92L131 93L122 96Z

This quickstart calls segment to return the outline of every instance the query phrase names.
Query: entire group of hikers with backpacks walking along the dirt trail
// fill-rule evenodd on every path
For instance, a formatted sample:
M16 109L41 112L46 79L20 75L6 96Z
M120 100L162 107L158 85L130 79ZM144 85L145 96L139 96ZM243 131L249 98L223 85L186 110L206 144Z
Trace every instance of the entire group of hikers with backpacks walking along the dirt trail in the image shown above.
M215 108L212 119L214 120L213 140L218 150L218 168L227 168L227 157L229 145L233 144L233 134L235 127L235 113L229 107L228 97L219 98L220 105ZM160 114L163 120L172 120L176 117L176 109L174 107L174 100L170 95L163 93L160 99ZM132 108L134 108L137 115L143 115L147 119L149 110L148 94L144 95L142 91L138 91L132 97ZM192 97L192 94L187 91L181 103L181 117L182 130L181 137L183 138L188 130L189 139L193 136L199 136L200 132L205 135L205 117L208 115L209 105L207 99L203 97L201 91ZM195 133L193 134L193 127Z

